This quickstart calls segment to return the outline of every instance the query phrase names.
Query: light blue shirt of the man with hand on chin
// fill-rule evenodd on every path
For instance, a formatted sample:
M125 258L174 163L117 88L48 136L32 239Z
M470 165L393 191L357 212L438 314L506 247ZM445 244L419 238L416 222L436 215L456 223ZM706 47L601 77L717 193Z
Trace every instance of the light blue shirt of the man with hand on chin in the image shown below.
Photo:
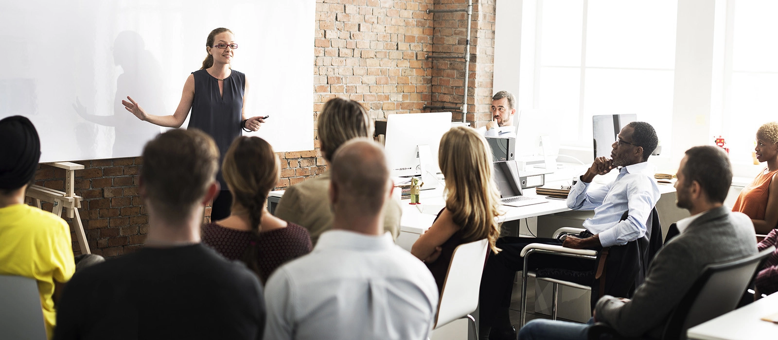
M584 221L584 228L599 234L603 247L626 245L646 234L646 222L659 200L654 181L654 166L647 161L619 169L615 181L589 189L591 183L578 181L567 195L567 206L573 210L594 210L594 217ZM629 210L629 217L621 220Z

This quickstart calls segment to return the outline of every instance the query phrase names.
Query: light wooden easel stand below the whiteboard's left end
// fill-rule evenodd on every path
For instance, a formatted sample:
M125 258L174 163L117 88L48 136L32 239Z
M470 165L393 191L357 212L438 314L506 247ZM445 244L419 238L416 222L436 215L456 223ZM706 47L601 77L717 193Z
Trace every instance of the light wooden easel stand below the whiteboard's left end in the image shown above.
M73 229L75 229L75 237L79 240L81 253L91 254L89 251L89 244L86 243L84 225L81 223L81 216L79 215L79 208L81 207L83 197L75 195L75 171L82 170L84 166L69 161L42 164L50 165L54 168L65 169L65 192L49 189L44 186L33 185L27 189L27 196L30 196L35 200L35 205L38 208L40 208L40 201L54 203L54 209L51 212L59 217L62 216L62 209L64 208L68 217L75 220Z

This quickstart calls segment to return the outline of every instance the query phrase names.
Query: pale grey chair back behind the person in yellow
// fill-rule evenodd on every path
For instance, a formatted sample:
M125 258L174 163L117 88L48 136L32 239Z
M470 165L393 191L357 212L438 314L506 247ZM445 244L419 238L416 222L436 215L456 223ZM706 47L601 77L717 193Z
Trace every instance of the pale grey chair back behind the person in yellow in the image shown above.
M46 339L44 312L34 279L0 275L0 338Z

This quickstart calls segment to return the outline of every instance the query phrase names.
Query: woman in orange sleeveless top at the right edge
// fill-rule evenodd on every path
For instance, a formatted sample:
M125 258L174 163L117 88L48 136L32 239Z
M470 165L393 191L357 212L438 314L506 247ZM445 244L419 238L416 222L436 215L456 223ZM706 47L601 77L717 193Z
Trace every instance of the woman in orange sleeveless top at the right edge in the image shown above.
M778 224L778 123L759 127L754 151L756 159L767 166L743 188L732 211L751 217L756 234L769 234Z

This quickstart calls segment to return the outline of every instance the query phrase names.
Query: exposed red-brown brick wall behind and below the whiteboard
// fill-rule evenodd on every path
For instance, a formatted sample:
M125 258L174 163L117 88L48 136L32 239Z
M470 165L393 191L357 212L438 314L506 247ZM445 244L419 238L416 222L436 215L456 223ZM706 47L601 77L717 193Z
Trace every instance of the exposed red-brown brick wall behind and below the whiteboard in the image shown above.
M422 112L425 104L459 106L464 61L429 61L425 56L464 52L465 14L426 10L464 6L465 0L317 0L314 120L334 96L362 102L377 119ZM489 120L494 7L494 0L474 1L468 121L476 126ZM277 189L326 170L314 136L313 151L279 153L282 172ZM111 257L140 248L149 230L138 196L142 158L76 162L86 167L76 172L75 192L85 199L79 211L92 252ZM64 189L64 179L64 170L47 165L41 165L37 174L37 184L52 189ZM44 209L51 210L51 203ZM209 208L205 215L209 220ZM73 240L79 254L75 234Z

